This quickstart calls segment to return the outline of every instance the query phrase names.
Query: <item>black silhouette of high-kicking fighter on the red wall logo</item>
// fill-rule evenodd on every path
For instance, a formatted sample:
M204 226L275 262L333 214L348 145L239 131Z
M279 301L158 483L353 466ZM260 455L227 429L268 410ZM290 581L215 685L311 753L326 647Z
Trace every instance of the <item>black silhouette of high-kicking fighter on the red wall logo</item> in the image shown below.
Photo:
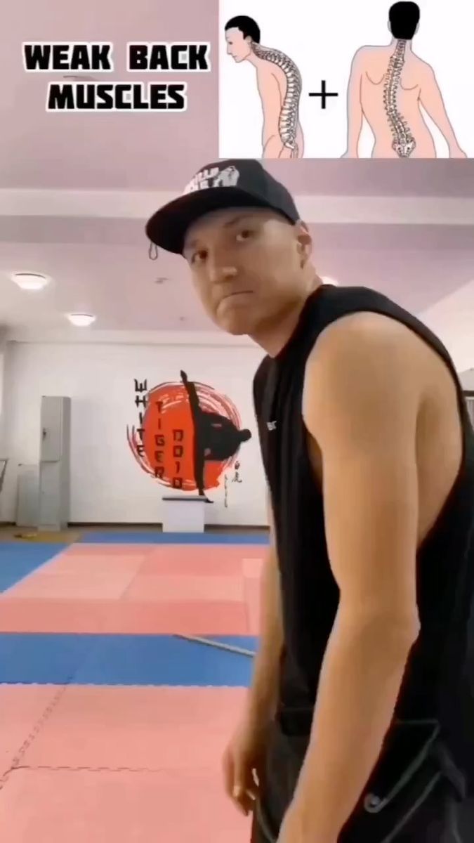
M204 464L206 461L224 462L233 457L243 442L251 438L250 430L239 430L234 422L220 413L202 410L196 384L190 381L186 372L180 373L186 387L191 416L194 424L194 476L197 491L204 492Z

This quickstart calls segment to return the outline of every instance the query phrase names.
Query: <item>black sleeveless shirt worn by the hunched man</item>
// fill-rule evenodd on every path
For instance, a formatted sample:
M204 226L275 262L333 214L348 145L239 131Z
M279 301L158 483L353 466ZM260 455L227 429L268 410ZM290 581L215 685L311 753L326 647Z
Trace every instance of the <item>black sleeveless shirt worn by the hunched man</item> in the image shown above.
M434 527L417 552L421 631L412 649L396 718L439 722L454 751L474 734L469 627L474 582L474 432L454 364L418 319L364 287L322 286L308 298L294 335L277 357L265 357L254 379L261 452L271 493L280 566L284 647L278 717L286 728L310 728L338 588L326 546L323 499L310 464L302 418L306 360L321 331L347 314L370 311L396 319L439 354L457 387L462 463ZM443 448L443 443L439 443ZM459 749L459 747L458 747ZM456 752L456 754L458 754Z

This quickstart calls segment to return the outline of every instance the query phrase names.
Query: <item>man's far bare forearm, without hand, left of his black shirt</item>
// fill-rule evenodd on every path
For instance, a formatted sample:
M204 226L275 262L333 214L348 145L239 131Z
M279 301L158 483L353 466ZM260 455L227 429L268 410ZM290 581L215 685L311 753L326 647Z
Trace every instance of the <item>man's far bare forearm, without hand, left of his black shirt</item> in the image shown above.
M250 721L263 728L272 719L277 705L280 657L283 647L280 574L270 501L268 501L268 521L270 547L261 572L260 645L248 698Z

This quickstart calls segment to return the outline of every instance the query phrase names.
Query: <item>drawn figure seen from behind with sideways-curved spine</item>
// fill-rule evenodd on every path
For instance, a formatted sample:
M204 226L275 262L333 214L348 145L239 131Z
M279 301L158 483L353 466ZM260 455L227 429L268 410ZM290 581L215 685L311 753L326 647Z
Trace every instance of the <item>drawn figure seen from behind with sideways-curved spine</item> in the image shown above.
M412 51L420 9L395 3L389 11L388 46L364 46L353 57L347 89L347 152L358 158L363 119L374 133L372 158L436 158L420 105L438 126L450 158L466 158L446 113L433 67Z

